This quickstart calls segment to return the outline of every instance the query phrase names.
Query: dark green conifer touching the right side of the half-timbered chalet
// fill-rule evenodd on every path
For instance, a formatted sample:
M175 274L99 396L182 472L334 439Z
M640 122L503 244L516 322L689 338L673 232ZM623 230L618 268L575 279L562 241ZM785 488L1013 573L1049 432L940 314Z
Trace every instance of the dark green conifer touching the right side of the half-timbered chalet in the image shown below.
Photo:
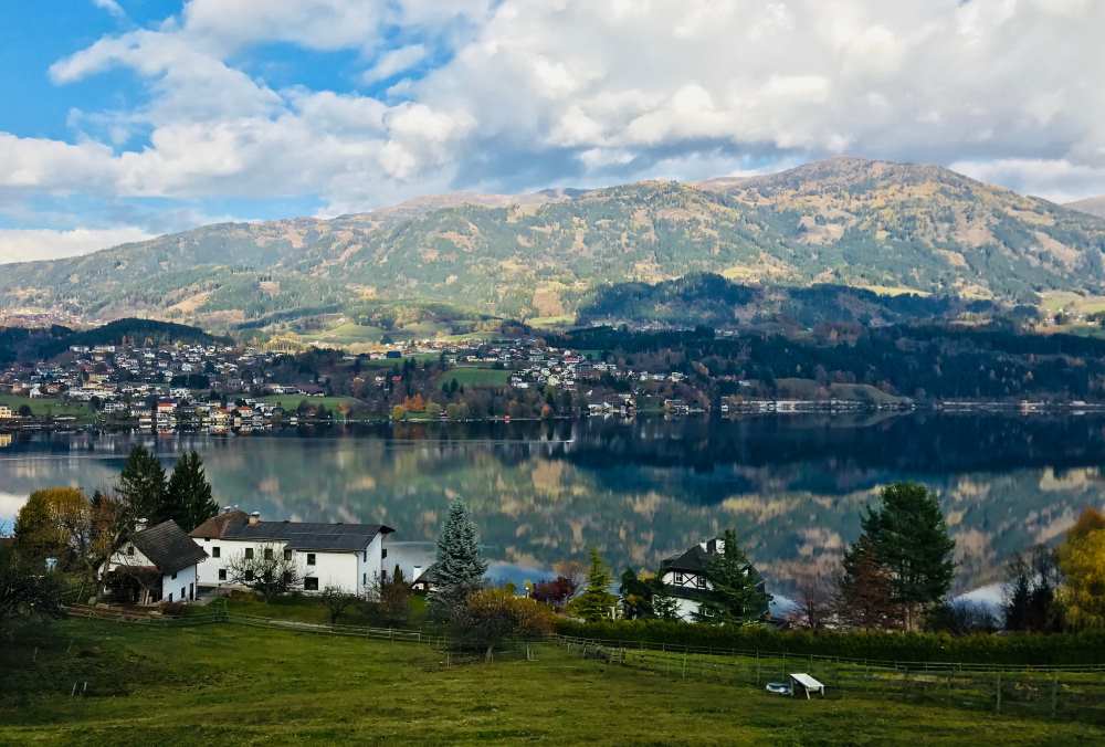
M733 529L726 529L722 539L722 551L706 564L711 589L695 619L726 624L760 620L771 601L771 596L764 590L764 579L737 545Z

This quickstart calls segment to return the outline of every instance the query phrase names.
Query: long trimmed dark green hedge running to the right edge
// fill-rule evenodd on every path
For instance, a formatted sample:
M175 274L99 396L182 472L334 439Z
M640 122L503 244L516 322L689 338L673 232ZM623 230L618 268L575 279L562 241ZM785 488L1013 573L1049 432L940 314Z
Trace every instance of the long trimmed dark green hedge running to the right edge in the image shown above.
M665 620L588 623L560 619L557 632L578 638L664 643L672 646L899 662L1105 664L1105 631L1053 635L977 633L953 636L946 633L878 631L780 631L762 625L724 628Z

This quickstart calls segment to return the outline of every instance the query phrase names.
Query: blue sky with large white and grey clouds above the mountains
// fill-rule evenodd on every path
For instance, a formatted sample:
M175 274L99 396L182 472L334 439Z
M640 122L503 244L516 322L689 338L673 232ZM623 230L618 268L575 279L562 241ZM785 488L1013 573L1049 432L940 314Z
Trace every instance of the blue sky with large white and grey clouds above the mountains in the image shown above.
M848 154L1105 193L1099 0L0 2L0 262Z

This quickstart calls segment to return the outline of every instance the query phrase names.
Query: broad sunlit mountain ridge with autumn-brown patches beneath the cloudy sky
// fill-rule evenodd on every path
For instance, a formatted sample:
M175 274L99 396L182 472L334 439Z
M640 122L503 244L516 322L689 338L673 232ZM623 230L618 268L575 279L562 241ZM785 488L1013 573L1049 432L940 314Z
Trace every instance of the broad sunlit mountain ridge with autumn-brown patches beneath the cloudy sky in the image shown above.
M770 176L425 198L332 220L208 225L0 272L0 306L224 328L421 299L519 317L712 272L1029 299L1105 287L1105 219L947 169L836 158Z

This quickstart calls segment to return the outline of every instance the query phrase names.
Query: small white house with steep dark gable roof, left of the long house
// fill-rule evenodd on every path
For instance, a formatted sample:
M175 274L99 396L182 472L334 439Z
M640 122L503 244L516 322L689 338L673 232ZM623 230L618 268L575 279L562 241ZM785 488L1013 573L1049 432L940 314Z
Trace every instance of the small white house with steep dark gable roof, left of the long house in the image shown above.
M141 529L112 556L104 581L126 601L188 602L196 599L197 569L208 559L172 519Z

